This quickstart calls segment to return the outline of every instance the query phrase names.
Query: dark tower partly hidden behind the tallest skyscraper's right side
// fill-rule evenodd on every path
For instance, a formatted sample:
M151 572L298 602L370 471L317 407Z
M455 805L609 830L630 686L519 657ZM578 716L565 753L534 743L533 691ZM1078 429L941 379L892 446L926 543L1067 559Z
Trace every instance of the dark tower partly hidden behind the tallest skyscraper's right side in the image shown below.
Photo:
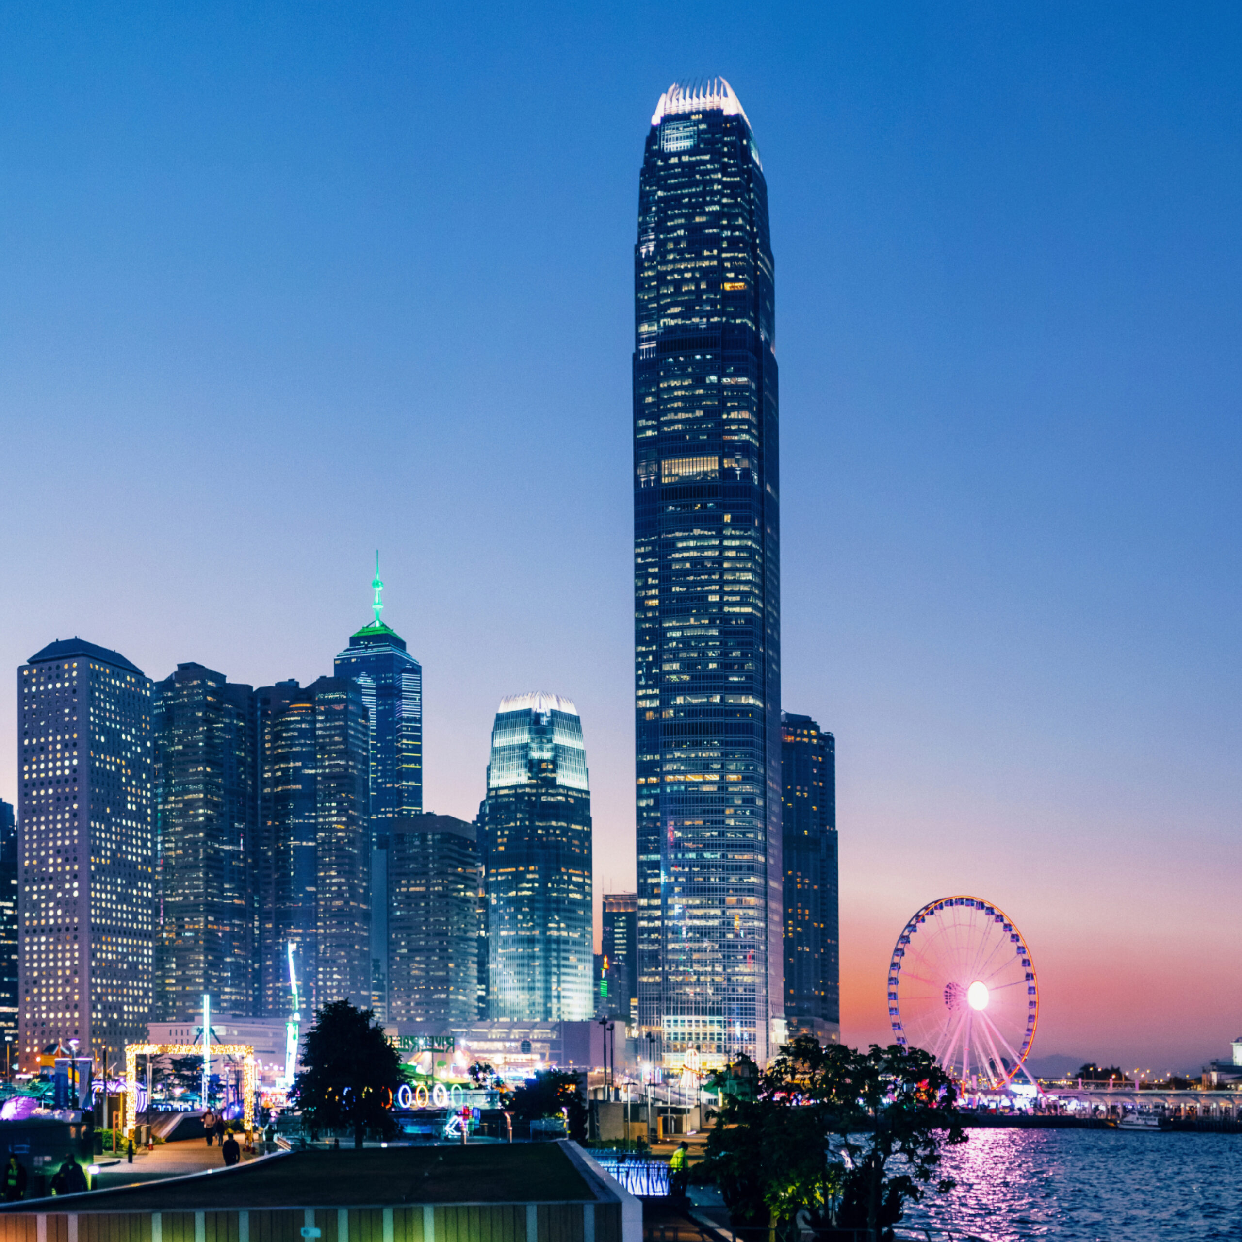
M790 1038L840 1037L836 740L781 713L785 1017Z

